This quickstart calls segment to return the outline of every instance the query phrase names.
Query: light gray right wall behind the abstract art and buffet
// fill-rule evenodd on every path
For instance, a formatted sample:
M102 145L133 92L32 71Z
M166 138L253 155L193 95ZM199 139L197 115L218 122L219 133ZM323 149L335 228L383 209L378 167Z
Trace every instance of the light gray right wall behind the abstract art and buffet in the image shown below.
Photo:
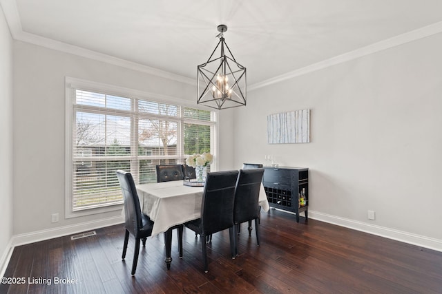
M311 216L442 250L440 52L436 34L249 92L235 112L235 165L273 154L309 167ZM267 144L267 115L307 108L311 143Z

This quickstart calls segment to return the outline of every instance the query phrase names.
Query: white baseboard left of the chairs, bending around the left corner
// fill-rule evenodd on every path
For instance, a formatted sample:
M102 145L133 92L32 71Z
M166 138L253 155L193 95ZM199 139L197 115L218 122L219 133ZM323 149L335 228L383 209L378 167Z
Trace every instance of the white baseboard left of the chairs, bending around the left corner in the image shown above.
M109 227L115 224L122 224L122 222L123 219L121 216L115 216L113 218L105 218L103 220L93 220L91 222L81 222L80 224L72 224L69 226L58 227L54 229L13 235L0 260L0 277L3 277L3 275L5 274L6 268L8 267L12 255L12 251L14 251L15 246L30 244L52 238L58 238L65 235L72 235L75 233L81 233L93 229Z

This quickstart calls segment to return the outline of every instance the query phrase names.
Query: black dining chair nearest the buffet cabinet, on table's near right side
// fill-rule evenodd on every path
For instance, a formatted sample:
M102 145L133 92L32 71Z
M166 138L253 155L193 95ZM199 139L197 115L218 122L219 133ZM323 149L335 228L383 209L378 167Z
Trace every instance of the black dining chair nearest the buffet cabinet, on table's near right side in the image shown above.
M233 206L233 224L235 236L242 222L249 222L249 235L251 235L251 221L255 220L256 242L260 246L258 220L260 215L259 198L264 169L241 169L236 184L235 202ZM235 243L236 244L236 243ZM235 253L238 254L237 246Z

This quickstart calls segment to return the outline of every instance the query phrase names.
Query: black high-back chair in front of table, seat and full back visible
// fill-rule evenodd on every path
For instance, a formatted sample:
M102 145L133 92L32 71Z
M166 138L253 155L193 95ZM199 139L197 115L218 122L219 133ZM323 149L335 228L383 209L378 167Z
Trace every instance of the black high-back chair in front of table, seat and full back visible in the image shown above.
M201 218L186 222L184 226L201 235L204 272L209 271L206 237L229 229L231 257L236 257L233 234L233 200L238 171L207 173L201 203Z

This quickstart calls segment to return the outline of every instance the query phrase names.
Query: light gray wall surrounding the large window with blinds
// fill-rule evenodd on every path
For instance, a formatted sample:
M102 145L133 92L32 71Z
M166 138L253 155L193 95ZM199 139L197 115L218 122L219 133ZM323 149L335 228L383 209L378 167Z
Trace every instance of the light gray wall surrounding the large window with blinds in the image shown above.
M64 218L65 76L196 100L194 85L20 41L14 42L13 64L14 235L121 216L113 211ZM220 114L220 128L230 125L227 113ZM230 158L220 169L231 167L231 145L228 138L218 145L220 156ZM59 213L59 222L51 223L52 213Z

